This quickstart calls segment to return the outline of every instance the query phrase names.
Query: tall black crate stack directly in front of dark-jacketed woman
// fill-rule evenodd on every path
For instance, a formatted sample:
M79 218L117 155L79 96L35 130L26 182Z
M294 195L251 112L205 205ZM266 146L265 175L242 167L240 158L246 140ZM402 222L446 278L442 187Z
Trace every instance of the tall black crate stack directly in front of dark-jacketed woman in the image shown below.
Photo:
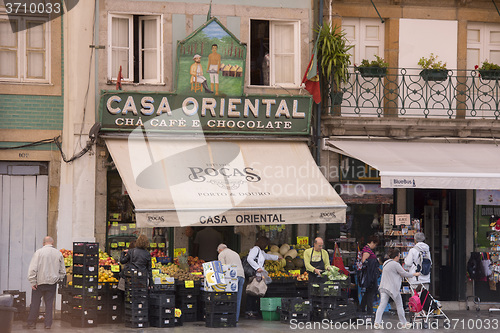
M148 276L145 272L125 270L125 326L149 327Z

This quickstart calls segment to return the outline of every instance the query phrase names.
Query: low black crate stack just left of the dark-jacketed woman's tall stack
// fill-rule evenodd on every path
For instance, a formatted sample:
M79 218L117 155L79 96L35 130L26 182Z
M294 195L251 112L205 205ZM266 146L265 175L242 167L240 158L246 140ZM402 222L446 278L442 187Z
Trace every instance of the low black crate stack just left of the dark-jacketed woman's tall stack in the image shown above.
M123 322L123 293L117 282L100 282L97 287L97 319L100 324Z

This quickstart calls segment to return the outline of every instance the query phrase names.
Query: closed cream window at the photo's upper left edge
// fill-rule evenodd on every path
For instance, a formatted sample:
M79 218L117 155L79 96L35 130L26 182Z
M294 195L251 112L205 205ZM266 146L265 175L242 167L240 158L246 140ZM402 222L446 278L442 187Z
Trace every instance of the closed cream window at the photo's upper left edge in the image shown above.
M0 16L0 80L49 80L47 21L45 18ZM18 28L17 33L12 31L11 24Z

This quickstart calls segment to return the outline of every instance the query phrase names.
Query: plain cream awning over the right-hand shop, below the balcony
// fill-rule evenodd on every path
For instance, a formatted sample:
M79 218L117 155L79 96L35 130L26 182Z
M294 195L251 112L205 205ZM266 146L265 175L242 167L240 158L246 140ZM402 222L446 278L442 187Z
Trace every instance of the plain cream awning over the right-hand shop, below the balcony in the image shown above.
M389 188L500 189L500 147L489 143L327 140L379 170Z

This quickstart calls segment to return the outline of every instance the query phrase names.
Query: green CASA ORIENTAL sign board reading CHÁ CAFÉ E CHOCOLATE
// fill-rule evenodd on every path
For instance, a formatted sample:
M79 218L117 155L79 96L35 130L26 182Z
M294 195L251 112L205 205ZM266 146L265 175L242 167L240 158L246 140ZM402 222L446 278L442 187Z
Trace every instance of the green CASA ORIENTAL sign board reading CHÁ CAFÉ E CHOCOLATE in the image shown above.
M105 92L102 131L308 135L309 96L196 96Z

